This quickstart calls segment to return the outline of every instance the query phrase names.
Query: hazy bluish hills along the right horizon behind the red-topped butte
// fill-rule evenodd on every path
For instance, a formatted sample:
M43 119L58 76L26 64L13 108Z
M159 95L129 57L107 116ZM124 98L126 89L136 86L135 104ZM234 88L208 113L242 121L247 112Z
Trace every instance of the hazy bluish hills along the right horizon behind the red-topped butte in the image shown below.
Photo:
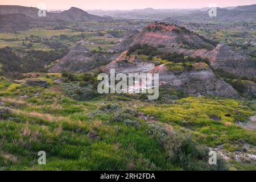
M255 20L256 5L226 7L217 9L217 17L215 19L232 19L232 20ZM202 9L141 9L141 10L92 10L89 13L101 16L112 16L128 19L153 19L162 20L166 18L174 18L177 20L188 20L196 22L200 19L210 19L208 15L209 7Z

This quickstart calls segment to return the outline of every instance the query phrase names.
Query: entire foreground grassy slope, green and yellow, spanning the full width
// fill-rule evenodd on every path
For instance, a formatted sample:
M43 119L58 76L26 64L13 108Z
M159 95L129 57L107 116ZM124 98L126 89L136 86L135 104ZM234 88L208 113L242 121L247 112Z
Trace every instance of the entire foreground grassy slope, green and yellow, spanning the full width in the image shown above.
M209 96L165 104L115 94L73 100L65 84L53 82L60 76L41 73L48 88L1 78L1 102L10 108L1 113L1 169L255 169L232 158L209 166L205 147L255 148L255 131L235 123L256 114L253 101ZM46 166L38 165L38 151L46 151Z

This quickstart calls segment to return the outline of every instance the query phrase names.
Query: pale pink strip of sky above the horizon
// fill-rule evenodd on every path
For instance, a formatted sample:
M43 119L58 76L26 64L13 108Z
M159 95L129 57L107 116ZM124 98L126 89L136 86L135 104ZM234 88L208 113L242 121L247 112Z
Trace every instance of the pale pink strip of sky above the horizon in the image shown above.
M0 0L0 5L21 5L38 7L46 4L47 10L67 10L79 7L83 10L131 10L151 7L154 9L187 9L208 7L215 3L218 7L256 4L256 0Z

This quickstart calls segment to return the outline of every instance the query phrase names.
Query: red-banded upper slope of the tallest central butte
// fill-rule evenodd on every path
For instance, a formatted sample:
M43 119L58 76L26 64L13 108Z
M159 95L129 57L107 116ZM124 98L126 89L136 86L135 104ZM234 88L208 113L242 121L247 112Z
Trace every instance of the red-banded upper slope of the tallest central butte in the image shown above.
M177 47L177 46L193 46L199 48L213 48L213 46L205 42L184 27L176 26L175 24L166 23L151 23L144 27L139 34L121 41L117 46L110 51L125 51L130 46L135 44L147 44L148 46L162 47Z

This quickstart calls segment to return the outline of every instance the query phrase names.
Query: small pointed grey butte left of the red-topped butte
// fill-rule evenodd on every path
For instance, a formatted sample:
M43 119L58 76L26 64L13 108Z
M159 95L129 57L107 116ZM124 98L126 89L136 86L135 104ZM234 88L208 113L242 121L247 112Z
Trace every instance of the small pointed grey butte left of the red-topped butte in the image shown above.
M113 54L93 54L85 46L77 44L63 59L53 64L49 71L57 73L62 71L84 73L110 63L117 56Z

